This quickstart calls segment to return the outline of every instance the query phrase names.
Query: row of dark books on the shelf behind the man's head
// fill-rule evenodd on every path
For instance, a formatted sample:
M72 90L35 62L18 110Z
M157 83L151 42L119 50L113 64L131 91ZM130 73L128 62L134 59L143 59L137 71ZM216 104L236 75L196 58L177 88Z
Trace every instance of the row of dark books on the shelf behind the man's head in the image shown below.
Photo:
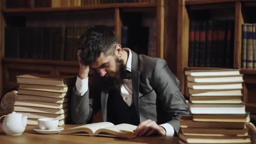
M77 61L78 40L86 28L5 27L5 57ZM147 55L148 39L148 27L122 27L123 48Z

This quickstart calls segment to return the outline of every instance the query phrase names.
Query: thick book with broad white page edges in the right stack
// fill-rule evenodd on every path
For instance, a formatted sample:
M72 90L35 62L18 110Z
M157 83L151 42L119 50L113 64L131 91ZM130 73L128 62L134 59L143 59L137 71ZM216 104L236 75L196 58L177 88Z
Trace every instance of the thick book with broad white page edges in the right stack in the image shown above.
M246 114L245 104L194 104L189 103L192 114Z

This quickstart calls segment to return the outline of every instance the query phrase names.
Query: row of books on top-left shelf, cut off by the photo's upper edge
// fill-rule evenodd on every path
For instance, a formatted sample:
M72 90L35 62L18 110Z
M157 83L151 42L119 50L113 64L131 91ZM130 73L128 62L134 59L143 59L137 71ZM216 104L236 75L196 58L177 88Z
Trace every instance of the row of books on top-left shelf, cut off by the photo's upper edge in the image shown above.
M6 8L59 8L107 3L155 3L155 0L6 0Z

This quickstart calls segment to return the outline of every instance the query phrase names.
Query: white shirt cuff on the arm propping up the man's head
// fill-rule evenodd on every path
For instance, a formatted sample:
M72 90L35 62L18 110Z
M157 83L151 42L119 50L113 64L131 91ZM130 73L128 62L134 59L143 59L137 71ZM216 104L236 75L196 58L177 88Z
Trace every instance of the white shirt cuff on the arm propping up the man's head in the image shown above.
M81 80L77 76L77 81L75 82L75 94L83 96L88 91L88 79L89 77Z

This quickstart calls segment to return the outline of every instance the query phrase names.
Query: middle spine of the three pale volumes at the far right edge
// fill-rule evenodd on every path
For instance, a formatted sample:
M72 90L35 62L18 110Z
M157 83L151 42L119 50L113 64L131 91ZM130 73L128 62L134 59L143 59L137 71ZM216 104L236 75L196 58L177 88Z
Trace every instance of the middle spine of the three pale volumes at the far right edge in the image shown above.
M247 24L246 69L253 68L253 24Z

